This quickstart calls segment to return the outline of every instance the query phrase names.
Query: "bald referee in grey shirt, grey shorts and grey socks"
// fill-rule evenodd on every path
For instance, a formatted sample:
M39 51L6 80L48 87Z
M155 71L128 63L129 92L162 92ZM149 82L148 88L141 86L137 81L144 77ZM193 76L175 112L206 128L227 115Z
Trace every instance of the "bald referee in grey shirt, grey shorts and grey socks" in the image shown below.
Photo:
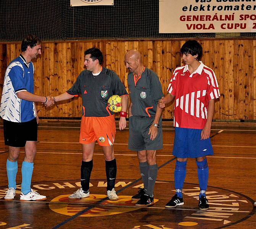
M143 66L141 53L130 50L125 54L129 69L129 142L128 148L137 151L139 168L144 189L139 190L132 200L136 206L154 203L153 190L157 177L156 150L163 147L162 109L157 106L163 96L162 86L156 73Z

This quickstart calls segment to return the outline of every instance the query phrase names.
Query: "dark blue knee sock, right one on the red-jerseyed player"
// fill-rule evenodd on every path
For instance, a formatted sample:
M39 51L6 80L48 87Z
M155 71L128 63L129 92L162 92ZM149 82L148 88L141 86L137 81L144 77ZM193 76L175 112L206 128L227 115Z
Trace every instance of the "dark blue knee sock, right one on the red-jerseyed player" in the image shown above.
M200 187L200 198L202 195L206 196L205 192L208 184L209 168L207 164L207 159L204 159L203 161L196 161L196 164L198 166L197 173Z

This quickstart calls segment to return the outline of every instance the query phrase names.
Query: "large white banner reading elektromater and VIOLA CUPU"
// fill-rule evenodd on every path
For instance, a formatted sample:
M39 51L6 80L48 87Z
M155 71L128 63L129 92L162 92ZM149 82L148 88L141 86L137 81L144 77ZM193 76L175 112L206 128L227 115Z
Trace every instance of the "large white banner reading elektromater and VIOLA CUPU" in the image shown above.
M256 0L159 0L159 33L256 32Z

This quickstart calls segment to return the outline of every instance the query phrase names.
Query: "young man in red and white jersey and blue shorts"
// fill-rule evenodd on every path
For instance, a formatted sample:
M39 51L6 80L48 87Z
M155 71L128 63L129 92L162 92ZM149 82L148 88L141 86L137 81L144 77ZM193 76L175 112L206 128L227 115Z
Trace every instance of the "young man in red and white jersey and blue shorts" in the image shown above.
M220 96L219 87L212 69L199 61L203 48L196 40L185 42L180 51L185 66L174 70L167 89L168 94L159 100L160 108L175 100L173 155L177 157L174 172L176 194L165 207L174 208L184 204L182 188L186 177L186 161L187 158L195 158L200 187L199 208L207 210L209 168L206 155L213 154L210 133L214 100Z

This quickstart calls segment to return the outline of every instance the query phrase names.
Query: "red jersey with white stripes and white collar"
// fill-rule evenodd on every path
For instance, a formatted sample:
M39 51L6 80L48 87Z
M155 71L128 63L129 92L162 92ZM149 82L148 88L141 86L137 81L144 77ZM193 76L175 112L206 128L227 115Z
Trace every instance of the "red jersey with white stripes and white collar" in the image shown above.
M207 121L208 101L220 97L214 71L200 63L192 74L188 65L173 72L167 92L175 96L175 127L203 129Z

